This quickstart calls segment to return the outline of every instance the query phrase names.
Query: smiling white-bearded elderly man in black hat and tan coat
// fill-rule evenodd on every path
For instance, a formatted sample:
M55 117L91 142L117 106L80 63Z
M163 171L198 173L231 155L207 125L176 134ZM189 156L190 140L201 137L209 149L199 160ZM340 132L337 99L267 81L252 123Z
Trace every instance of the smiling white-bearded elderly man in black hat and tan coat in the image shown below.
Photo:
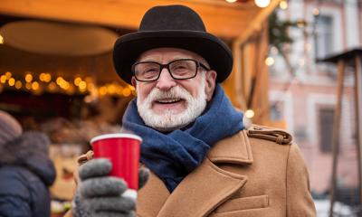
M308 171L291 136L243 126L220 82L229 48L192 9L156 6L116 42L120 78L136 87L123 127L143 138L136 203L108 176L110 162L81 165L76 216L315 216ZM147 170L150 170L146 184Z

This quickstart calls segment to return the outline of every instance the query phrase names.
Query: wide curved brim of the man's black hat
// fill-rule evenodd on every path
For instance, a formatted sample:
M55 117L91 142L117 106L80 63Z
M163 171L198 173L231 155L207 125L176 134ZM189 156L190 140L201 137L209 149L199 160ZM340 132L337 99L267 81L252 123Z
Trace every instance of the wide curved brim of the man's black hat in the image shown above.
M145 31L126 34L115 42L113 64L119 77L130 84L132 64L139 55L160 47L185 49L202 56L217 72L217 82L223 82L233 69L232 52L213 34L201 31Z

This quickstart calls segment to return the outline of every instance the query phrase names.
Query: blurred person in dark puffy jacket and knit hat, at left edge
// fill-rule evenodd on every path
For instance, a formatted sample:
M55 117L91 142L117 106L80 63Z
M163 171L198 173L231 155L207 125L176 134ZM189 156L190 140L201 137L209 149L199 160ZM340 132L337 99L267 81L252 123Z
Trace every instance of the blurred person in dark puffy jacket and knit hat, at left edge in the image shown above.
M42 133L23 133L19 122L0 110L0 216L51 215L48 186L55 170L49 144Z

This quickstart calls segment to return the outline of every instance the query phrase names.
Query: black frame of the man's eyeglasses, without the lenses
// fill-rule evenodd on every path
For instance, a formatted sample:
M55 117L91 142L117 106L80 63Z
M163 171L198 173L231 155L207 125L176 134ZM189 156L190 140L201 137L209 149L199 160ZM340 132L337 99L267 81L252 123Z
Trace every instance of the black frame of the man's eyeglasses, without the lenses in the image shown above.
M192 76L192 77L188 77L188 78L182 78L182 79L178 79L178 78L175 78L174 75L171 73L171 70L169 69L169 65L175 61L194 61L195 64L196 64L196 70L195 70L195 75ZM154 80L138 80L137 76L136 76L136 71L135 71L135 68L138 64L140 63L156 63L158 66L159 66L159 72L158 72L158 76L156 79ZM207 66L205 66L204 63L202 63L201 61L196 61L194 59L177 59L177 60L174 60L174 61L169 61L168 63L166 64L161 64L157 61L137 61L135 62L133 65L132 65L132 73L133 75L135 76L135 79L138 80L138 81L141 81L141 82L152 82L152 81L156 81L159 79L159 76L161 76L161 72L166 68L168 73L171 75L171 77L174 79L174 80L188 80L188 79L193 79L196 77L197 75L197 72L198 72L198 68L204 68L206 71L211 71L210 68L208 68Z

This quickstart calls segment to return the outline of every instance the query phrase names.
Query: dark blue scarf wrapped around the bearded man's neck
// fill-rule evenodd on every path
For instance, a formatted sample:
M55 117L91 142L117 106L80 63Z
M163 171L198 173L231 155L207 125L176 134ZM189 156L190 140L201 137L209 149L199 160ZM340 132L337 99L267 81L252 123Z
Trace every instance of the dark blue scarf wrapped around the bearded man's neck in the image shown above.
M211 146L243 129L243 114L233 109L219 84L214 99L195 122L184 129L159 132L138 115L137 100L129 103L123 127L142 137L141 162L173 192L176 186L200 165Z

